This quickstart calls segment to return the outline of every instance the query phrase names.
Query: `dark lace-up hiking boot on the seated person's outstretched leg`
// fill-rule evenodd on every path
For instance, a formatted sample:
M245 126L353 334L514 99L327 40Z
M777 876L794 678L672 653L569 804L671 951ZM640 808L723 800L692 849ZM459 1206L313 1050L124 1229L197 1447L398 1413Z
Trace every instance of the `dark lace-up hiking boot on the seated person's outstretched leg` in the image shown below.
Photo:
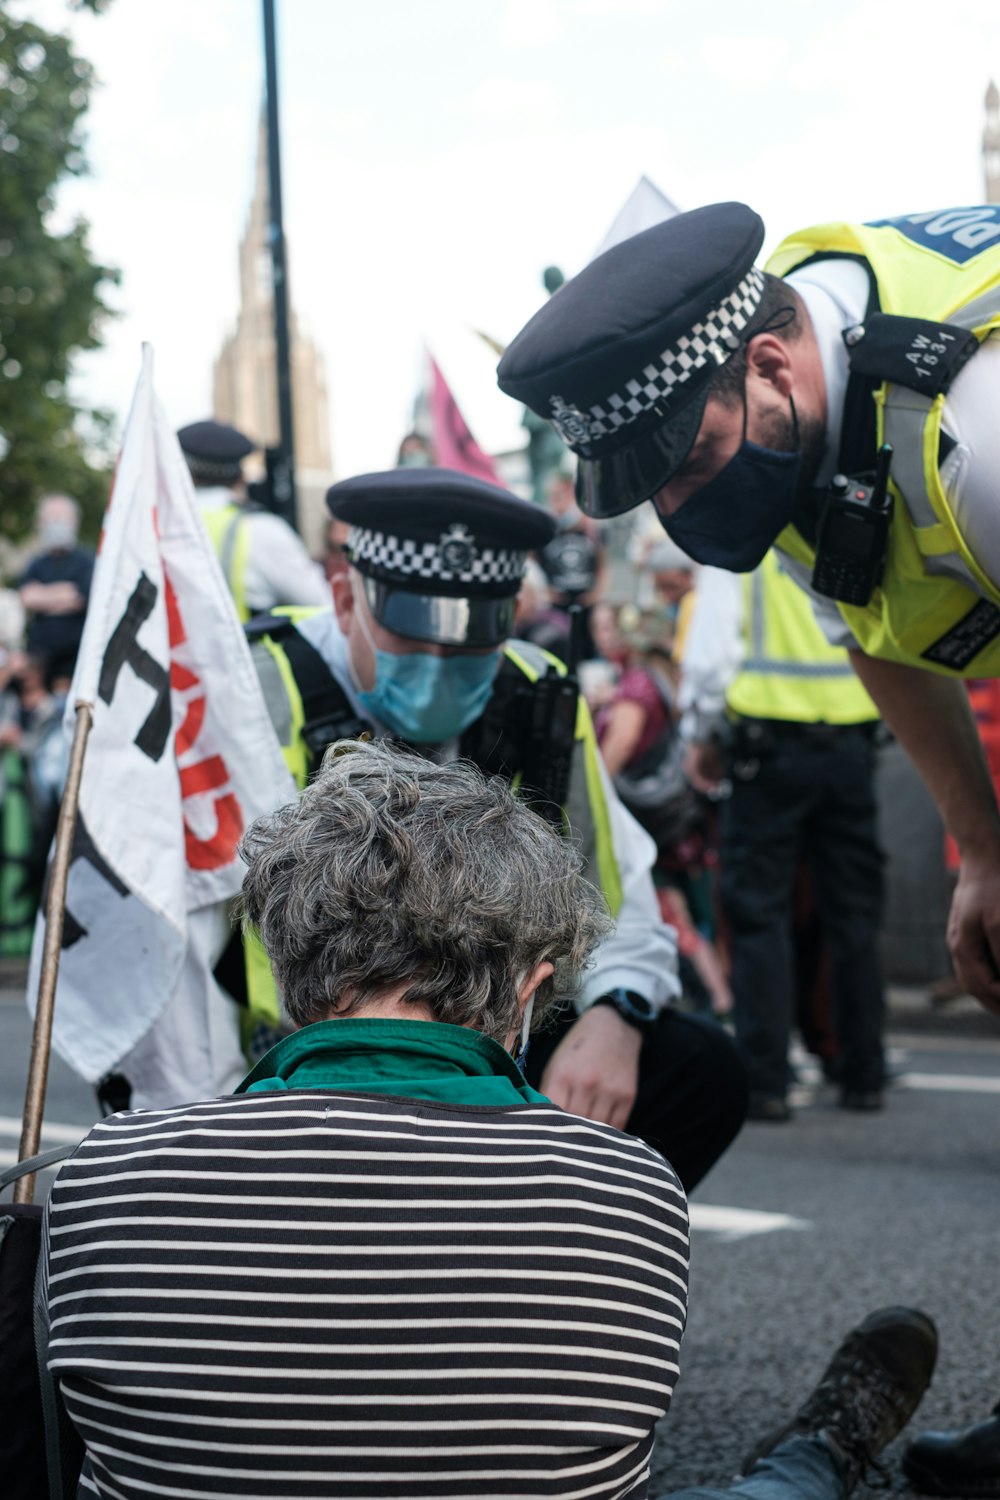
M937 1329L916 1308L882 1308L847 1335L823 1378L790 1422L747 1455L741 1473L787 1437L820 1437L844 1466L847 1488L874 1470L879 1454L910 1420L931 1383Z

